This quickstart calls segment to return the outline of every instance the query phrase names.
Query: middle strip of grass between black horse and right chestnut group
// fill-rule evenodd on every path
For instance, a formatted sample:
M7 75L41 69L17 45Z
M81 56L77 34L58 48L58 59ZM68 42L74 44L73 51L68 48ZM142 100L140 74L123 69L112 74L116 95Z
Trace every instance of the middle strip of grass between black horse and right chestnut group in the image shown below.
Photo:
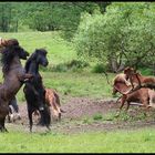
M60 96L112 97L112 86L105 76L94 73L59 73L41 72L45 87L55 89ZM114 75L110 74L112 80ZM18 93L19 101L24 101L22 89Z

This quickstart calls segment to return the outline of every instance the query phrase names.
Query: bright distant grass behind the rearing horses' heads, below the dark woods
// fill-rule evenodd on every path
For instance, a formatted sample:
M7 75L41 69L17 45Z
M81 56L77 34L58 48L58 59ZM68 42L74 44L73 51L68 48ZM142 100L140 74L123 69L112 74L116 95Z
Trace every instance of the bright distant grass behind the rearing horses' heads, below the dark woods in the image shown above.
M45 48L48 50L49 66L71 61L76 58L73 45L60 38L59 32L19 32L0 33L1 38L16 38L20 44L32 53L35 49Z

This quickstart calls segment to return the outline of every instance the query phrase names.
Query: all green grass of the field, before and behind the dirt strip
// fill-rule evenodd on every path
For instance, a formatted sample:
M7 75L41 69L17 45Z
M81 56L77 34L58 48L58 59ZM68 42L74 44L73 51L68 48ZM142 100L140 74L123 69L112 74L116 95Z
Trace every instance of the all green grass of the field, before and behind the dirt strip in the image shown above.
M0 37L16 38L32 53L37 48L46 48L51 66L78 59L71 43L58 32L0 33ZM24 61L22 62L24 64ZM41 71L46 87L55 89L61 95L112 97L112 87L104 74L91 72ZM108 74L110 81L114 74ZM2 81L2 74L0 76ZM24 101L22 87L18 101ZM154 128L135 131L87 132L80 134L32 133L9 130L0 133L0 153L154 153Z

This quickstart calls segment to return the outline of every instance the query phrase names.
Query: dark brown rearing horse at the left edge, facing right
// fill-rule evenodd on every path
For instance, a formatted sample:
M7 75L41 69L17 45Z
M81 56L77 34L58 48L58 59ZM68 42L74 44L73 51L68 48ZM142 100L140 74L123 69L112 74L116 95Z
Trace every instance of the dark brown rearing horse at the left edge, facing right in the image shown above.
M4 126L6 116L9 114L9 102L16 96L24 81L32 78L22 68L21 59L27 60L29 53L19 45L17 39L6 45L1 51L3 82L0 85L0 131L8 132Z

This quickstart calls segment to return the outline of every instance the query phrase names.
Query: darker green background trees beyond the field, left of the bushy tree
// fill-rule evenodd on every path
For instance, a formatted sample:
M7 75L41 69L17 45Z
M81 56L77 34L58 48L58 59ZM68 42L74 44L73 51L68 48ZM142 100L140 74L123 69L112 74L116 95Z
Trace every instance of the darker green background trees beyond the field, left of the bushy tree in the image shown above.
M70 39L82 12L105 11L110 2L0 2L0 31L18 32L62 30ZM25 29L27 28L27 29Z

